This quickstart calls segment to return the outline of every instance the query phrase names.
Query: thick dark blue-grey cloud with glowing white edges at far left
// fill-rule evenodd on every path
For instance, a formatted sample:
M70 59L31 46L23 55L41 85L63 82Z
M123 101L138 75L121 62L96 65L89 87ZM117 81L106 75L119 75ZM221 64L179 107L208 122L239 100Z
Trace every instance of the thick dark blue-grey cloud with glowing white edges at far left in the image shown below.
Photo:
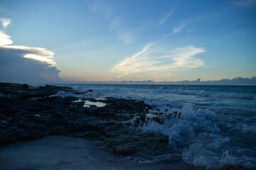
M0 81L19 83L60 82L58 70L53 60L54 53L41 47L11 45L11 36L6 28L11 19L0 18Z

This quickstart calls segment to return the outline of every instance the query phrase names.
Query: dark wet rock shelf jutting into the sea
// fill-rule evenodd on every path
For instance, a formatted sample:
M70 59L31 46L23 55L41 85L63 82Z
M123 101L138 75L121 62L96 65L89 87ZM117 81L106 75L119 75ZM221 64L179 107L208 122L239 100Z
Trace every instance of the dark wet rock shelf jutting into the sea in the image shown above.
M173 151L167 136L143 133L133 128L131 120L137 117L138 123L146 121L146 113L152 109L144 101L51 96L59 91L80 93L68 86L33 87L1 83L0 144L48 135L68 135L102 140L112 152L120 155L159 155ZM85 100L102 102L106 106L83 107L82 101Z

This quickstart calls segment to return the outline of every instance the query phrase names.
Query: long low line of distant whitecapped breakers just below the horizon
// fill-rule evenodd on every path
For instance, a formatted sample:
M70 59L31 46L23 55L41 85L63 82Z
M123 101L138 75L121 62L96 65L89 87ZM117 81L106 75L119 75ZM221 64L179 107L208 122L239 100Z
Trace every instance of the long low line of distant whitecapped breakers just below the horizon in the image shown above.
M255 94L245 93L232 93L230 91L206 91L206 90L194 90L194 89L182 89L182 88L170 88L165 86L159 86L159 88L151 89L139 89L134 87L122 87L122 86L90 86L93 89L91 94L88 94L88 86L72 86L75 91L85 93L82 95L66 94L68 96L76 97L114 97L114 98L134 98L148 101L151 99L162 99L163 97L171 97L171 94L177 94L180 96L200 96L207 98L230 98L230 99L245 99L245 100L256 100ZM65 93L65 92L62 92ZM65 94L58 94L57 96L64 96Z

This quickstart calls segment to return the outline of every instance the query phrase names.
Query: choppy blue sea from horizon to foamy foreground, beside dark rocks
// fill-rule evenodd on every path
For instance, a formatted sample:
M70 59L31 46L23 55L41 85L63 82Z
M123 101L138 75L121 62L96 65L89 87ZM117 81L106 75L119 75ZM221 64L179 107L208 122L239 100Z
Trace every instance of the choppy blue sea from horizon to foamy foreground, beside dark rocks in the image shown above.
M169 146L175 153L141 159L142 163L168 162L181 157L187 164L207 169L227 164L256 169L256 86L68 86L80 92L93 91L85 94L60 91L55 96L129 98L154 107L148 114L149 121L138 125L136 130L168 135ZM181 115L172 116L174 112ZM152 116L161 118L162 123L151 120Z

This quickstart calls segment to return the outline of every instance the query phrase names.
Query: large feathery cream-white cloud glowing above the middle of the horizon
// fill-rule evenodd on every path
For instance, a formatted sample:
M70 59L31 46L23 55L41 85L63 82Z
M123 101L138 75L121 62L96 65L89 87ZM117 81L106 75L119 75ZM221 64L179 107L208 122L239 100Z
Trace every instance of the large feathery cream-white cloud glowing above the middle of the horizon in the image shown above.
M115 64L110 72L123 77L139 72L173 72L176 69L201 67L203 60L194 56L203 52L206 50L193 45L170 48L156 47L151 43L132 57Z

